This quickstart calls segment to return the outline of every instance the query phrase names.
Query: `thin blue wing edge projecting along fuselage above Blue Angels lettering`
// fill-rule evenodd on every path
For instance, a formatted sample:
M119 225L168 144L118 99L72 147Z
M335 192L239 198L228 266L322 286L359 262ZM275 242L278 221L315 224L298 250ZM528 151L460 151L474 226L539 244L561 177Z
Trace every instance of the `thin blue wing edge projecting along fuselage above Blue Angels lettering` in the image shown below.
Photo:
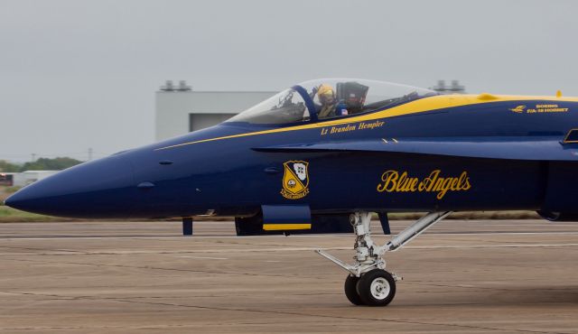
M258 152L384 152L461 156L471 158L578 161L578 144L562 144L559 137L444 137L382 138L380 140L320 142L256 147Z

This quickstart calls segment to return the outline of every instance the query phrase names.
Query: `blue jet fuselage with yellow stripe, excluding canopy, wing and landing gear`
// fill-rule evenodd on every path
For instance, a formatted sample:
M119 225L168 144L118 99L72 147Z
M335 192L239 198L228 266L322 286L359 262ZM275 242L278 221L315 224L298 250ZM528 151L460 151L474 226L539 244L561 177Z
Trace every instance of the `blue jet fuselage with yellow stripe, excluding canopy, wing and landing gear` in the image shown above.
M384 145L442 137L563 139L578 127L577 112L578 99L571 97L445 95L299 124L226 122L83 163L24 188L7 204L78 218L248 217L263 205L298 204L312 213L578 211L578 199L569 198L575 190L568 190L578 188L578 162L256 150L368 139ZM284 196L284 162L307 164L305 195ZM565 181L554 180L557 173Z

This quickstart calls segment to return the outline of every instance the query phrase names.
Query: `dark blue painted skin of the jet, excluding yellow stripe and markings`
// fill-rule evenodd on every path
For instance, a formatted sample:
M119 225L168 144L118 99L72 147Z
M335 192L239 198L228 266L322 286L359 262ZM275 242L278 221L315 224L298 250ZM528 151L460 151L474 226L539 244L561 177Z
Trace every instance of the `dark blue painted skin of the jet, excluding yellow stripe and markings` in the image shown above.
M540 103L552 102L450 107L381 119L385 125L374 129L322 135L323 127L317 127L156 150L287 126L223 123L82 163L23 188L6 204L74 218L191 217L207 210L246 218L263 205L306 206L312 215L360 209L577 212L578 147L560 142L578 125L578 104L556 101L570 108L566 113L508 111ZM281 194L287 161L309 163L309 192L301 199ZM387 171L407 172L421 182L438 170L442 178L467 172L471 188L449 190L441 199L437 191L377 190ZM145 182L154 187L138 187Z

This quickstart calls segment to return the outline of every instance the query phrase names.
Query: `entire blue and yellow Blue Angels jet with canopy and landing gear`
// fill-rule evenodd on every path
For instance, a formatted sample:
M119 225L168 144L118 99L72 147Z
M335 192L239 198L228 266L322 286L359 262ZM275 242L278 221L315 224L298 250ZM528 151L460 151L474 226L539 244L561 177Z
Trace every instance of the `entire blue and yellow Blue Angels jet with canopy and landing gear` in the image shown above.
M440 95L362 79L286 89L210 128L113 154L16 192L8 206L73 218L235 217L239 236L351 233L356 305L385 306L385 255L460 210L578 220L578 98ZM385 245L377 213L429 212ZM184 226L184 225L183 225Z

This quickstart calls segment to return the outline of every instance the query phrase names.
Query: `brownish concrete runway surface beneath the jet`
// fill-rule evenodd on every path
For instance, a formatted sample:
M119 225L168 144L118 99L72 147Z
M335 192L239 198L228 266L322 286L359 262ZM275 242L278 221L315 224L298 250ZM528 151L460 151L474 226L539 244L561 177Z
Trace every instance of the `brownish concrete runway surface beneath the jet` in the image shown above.
M404 281L386 308L351 305L346 273L313 253L349 260L352 235L233 237L231 222L180 233L0 224L0 332L578 333L578 223L445 220L388 255Z

